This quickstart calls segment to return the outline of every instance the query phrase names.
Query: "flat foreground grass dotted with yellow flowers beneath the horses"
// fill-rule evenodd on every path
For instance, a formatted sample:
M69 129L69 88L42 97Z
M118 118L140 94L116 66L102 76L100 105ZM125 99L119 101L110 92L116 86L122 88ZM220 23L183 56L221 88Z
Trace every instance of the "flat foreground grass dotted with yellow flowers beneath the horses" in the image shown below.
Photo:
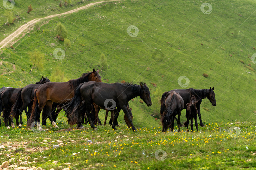
M162 133L160 126L137 126L137 132L133 132L126 125L117 127L117 131L106 125L98 126L98 130L93 131L88 125L83 130L77 130L64 123L58 124L59 129L56 129L47 123L43 126L45 131L40 133L24 128L26 125L10 130L1 126L0 145L16 146L0 148L2 154L8 154L0 155L0 164L10 158L13 159L11 164L21 159L32 162L23 166L55 170L68 167L253 169L256 164L255 122L236 121L233 125L229 125L231 122L206 123L206 127L199 127L199 132L194 133L186 132L185 127L181 127L182 131L178 133L175 126L174 132ZM236 131L232 131L234 128ZM51 140L43 142L45 138ZM57 140L62 141L61 146L53 148L53 145L60 144ZM93 143L89 144L87 140ZM164 150L166 155L162 154L164 152L157 155L159 149ZM158 156L166 156L166 159L160 161ZM58 163L55 165L53 161Z

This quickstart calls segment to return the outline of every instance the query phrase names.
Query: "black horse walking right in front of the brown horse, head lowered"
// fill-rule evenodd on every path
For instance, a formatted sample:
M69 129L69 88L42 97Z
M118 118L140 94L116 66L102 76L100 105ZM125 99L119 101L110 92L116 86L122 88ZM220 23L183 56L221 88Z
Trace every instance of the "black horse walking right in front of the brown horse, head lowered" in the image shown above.
M81 125L82 121L79 110L85 109L91 127L96 130L97 127L94 126L89 116L91 104L95 103L101 108L110 107L113 109L114 107L117 107L117 113L112 124L112 128L114 130L117 130L115 123L117 122L119 112L122 109L128 120L131 122L132 130L136 131L126 106L131 99L137 96L140 96L147 106L151 106L150 91L146 83L143 84L140 82L140 85L133 85L121 83L107 84L102 82L85 82L76 88L72 101L66 105L68 108L68 115L70 117L70 125L74 125L76 123L78 126ZM79 107L81 99L84 99L84 104Z

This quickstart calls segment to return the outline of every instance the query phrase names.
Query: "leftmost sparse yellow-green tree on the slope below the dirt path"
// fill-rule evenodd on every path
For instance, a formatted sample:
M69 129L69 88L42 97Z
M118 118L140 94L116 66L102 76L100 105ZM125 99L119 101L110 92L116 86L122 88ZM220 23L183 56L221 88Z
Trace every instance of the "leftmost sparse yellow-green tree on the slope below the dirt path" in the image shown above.
M39 70L43 69L43 60L45 58L45 55L43 53L41 53L40 51L28 52L28 56L30 58L30 61L32 62L32 68L29 74L34 68L37 68Z

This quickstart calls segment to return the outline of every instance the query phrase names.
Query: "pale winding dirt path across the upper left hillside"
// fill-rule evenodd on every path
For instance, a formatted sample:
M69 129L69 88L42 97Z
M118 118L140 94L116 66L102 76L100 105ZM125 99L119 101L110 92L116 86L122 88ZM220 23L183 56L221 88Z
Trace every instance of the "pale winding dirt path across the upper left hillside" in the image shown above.
M50 15L50 16L47 16L47 17L44 17L44 18L35 18L31 21L29 21L28 23L22 25L21 27L19 27L16 31L14 31L13 33L11 33L8 37L4 38L1 42L0 42L0 49L6 47L8 44L14 44L15 41L14 41L14 38L15 37L18 37L19 35L21 35L21 33L23 33L24 35L27 33L28 30L31 30L33 24L39 22L40 20L45 20L45 19L48 19L48 18L53 18L53 17L57 17L57 16L61 16L61 15L65 15L65 14L71 14L73 12L77 12L79 10L82 10L82 9L87 9L89 8L90 6L94 6L96 4L99 4L99 3L103 3L103 2L112 2L112 1L123 1L123 0L109 0L109 1L100 1L100 2L95 2L95 3L89 3L85 6L82 6L82 7L79 7L79 8L76 8L76 9L73 9L73 10L70 10L70 11L67 11L67 12L64 12L64 13L61 13L61 14L55 14L55 15ZM31 27L30 27L31 26ZM23 36L24 36L23 35Z

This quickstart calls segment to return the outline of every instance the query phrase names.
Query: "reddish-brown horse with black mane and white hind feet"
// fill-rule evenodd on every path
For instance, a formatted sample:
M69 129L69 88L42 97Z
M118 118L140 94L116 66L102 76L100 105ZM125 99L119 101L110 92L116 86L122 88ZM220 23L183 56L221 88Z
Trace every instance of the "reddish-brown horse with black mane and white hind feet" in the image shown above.
M50 82L44 83L41 86L39 86L35 90L32 113L30 119L28 120L27 127L30 127L31 124L37 120L38 129L40 131L43 130L40 126L39 119L41 111L43 110L45 105L47 106L47 116L50 119L52 125L54 127L58 127L51 116L52 103L55 102L62 104L69 102L70 99L74 96L74 90L76 89L76 87L79 86L81 83L88 81L102 82L101 76L99 74L99 69L97 71L93 69L92 72L84 73L80 78L69 80L68 82ZM78 128L82 129L84 127Z

